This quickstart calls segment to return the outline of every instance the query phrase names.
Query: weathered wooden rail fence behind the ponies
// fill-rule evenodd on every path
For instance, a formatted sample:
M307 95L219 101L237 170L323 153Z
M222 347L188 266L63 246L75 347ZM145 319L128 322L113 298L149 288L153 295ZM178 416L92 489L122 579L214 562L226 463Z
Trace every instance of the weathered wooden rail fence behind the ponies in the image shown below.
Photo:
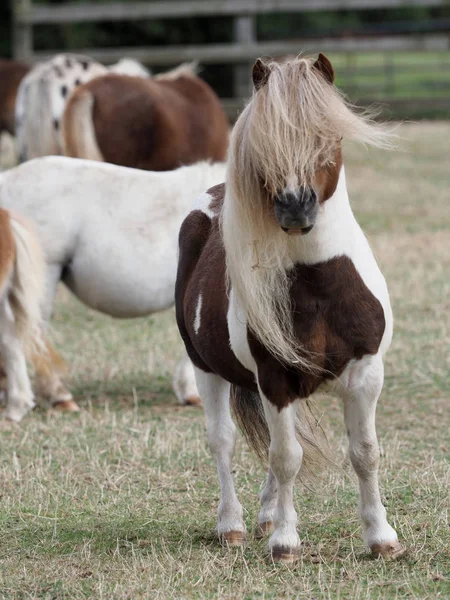
M127 56L151 67L168 67L184 61L201 64L232 64L234 73L234 98L224 101L233 113L247 97L249 68L258 56L281 56L297 54L300 50L317 52L439 52L450 49L450 31L424 31L399 35L395 33L322 39L294 39L283 41L258 41L256 19L259 15L276 13L299 13L305 11L336 11L344 9L394 9L405 6L439 7L448 0L155 0L147 2L109 2L98 4L68 3L63 5L33 4L33 0L11 0L13 7L13 55L33 63L49 58L53 51L36 51L33 44L33 27L46 24L78 22L133 21L142 19L171 19L189 17L233 18L234 41L227 44L205 44L163 47L117 47L77 48L73 52L87 54L105 62L115 62ZM389 69L381 67L389 76ZM347 69L349 78L355 78L357 70ZM391 69L392 80L392 69ZM414 99L406 98L411 105ZM445 105L445 98L437 99L437 105ZM430 103L430 98L426 98ZM389 103L389 100L387 100ZM401 102L393 100L392 105ZM450 108L450 107L449 107Z

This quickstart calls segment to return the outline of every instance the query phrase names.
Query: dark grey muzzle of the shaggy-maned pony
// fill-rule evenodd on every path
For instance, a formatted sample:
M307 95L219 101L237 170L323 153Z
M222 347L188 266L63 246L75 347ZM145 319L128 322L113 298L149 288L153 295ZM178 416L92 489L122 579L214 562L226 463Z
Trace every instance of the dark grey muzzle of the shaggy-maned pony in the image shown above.
M286 233L306 234L314 226L319 203L313 189L301 187L274 198L275 218Z

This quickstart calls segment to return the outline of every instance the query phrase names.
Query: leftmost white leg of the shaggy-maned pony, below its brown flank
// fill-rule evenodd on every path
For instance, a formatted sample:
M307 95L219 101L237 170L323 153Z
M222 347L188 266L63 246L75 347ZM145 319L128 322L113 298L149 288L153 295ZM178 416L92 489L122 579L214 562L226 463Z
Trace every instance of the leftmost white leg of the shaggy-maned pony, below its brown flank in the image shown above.
M236 496L231 473L236 426L230 411L230 384L212 373L195 368L198 391L205 409L208 443L216 460L220 483L217 531L220 540L230 546L245 542L242 506Z

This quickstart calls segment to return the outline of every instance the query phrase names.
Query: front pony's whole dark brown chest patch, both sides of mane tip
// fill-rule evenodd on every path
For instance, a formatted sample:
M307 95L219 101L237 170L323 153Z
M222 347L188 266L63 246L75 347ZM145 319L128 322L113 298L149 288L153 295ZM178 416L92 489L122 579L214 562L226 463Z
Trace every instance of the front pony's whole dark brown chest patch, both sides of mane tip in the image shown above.
M248 332L261 389L279 410L339 377L350 360L376 354L385 329L380 302L347 256L296 265L290 298L295 338L317 371L287 368Z

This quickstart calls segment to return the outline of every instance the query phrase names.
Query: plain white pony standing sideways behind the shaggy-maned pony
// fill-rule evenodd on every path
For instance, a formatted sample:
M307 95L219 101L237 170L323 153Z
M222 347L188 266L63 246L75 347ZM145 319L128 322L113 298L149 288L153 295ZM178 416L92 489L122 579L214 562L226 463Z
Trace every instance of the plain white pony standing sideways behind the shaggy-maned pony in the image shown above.
M82 302L113 317L171 306L180 225L193 199L224 177L223 163L151 172L54 156L1 174L0 206L33 220L44 249L45 321L60 280ZM61 402L57 369L38 383L50 399L58 389L55 401ZM198 403L187 357L177 366L174 390L182 404Z

